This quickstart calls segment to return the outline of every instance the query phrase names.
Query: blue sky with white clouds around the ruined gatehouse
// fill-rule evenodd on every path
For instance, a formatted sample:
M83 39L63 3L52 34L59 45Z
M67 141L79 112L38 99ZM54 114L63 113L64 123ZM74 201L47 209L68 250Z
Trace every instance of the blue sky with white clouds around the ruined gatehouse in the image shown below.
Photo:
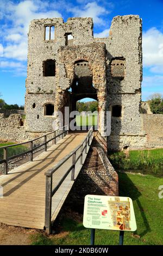
M24 104L27 76L27 33L32 19L93 17L94 36L109 34L117 15L137 14L143 20L142 100L163 94L163 0L43 1L0 0L0 93L8 104Z

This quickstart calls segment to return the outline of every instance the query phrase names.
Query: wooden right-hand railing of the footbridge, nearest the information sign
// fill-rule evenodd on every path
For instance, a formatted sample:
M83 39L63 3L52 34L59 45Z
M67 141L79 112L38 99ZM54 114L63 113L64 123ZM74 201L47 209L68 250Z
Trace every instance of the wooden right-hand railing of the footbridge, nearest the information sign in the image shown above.
M70 154L65 156L61 161L59 161L52 169L49 169L45 175L46 175L46 198L45 198L45 229L48 234L51 233L51 222L52 222L52 215L54 212L52 212L52 198L54 194L58 191L68 174L71 174L71 182L74 182L75 179L75 173L79 172L82 168L82 165L86 159L86 155L88 153L89 147L91 145L93 139L93 126L91 126L90 130L87 132L86 137L80 143L80 145L75 148ZM77 156L77 151L79 151L79 154ZM71 165L68 164L67 161L72 158ZM80 164L77 164L77 162L80 161ZM66 164L66 170L64 169L64 174L60 178L58 183L53 187L53 174L57 172L57 170L63 166L64 163ZM78 166L77 166L78 165ZM77 169L78 167L78 169ZM71 172L71 173L70 173ZM63 195L64 196L64 195Z

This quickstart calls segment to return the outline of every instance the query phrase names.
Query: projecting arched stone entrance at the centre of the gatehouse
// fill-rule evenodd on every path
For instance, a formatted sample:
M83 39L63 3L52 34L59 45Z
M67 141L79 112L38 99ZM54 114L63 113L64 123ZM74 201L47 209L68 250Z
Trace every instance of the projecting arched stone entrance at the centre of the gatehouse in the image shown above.
M76 111L76 103L84 97L98 101L98 130L105 129L106 113L106 58L103 44L86 46L65 46L59 49L56 69L55 113L61 112L64 125L70 124L70 117L65 121L65 109ZM60 126L60 117L55 122Z

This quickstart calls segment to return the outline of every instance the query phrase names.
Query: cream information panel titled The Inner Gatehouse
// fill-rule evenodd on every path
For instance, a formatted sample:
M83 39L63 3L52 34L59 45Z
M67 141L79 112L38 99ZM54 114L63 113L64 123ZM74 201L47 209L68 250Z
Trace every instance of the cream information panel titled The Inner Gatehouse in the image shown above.
M136 220L131 198L85 196L83 225L86 228L135 231Z

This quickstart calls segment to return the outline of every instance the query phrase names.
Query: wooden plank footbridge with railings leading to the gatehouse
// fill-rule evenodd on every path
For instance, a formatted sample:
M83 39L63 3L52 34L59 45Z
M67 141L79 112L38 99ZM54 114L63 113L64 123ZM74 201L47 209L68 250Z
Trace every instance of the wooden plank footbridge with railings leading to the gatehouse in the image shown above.
M51 138L47 139L48 136ZM0 163L4 164L4 174L0 176L0 223L45 229L50 233L51 223L59 214L86 159L93 127L79 133L68 133L64 127L62 131L53 131L41 138L43 143L35 148L36 139L29 142L26 154L30 155L30 161L10 172L8 161L25 153L8 157L9 147L15 144L2 147L4 158ZM53 145L47 148L49 142ZM34 150L39 147L44 151L33 159Z

